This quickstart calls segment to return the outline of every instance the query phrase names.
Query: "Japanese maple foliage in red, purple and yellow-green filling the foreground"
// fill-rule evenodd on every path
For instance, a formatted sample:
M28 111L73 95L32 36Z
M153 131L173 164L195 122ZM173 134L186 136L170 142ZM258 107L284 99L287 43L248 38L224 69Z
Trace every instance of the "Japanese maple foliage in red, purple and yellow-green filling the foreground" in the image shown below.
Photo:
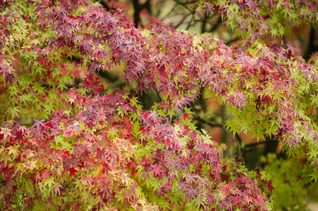
M227 106L234 136L283 143L300 186L317 180L317 56L268 41L290 20L317 28L314 1L197 1L195 17L221 17L237 46L105 7L0 0L4 209L271 210L267 172L225 159L197 129L202 94ZM102 77L116 68L119 88Z

